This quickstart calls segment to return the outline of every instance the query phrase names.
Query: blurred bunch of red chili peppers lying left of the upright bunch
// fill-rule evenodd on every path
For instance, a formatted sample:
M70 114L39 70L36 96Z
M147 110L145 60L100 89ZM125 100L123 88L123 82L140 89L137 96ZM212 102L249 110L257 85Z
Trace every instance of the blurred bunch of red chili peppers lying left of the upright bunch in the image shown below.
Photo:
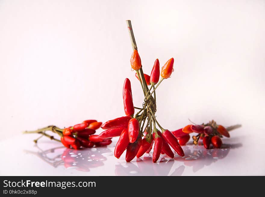
M41 136L34 140L37 143L42 136L49 137L55 141L61 142L66 148L80 149L92 148L95 146L106 146L111 144L111 139L102 139L98 135L94 135L96 130L100 128L102 122L96 120L85 120L81 124L76 124L73 127L60 129L56 126L48 126L36 131L25 131L24 133L39 133ZM61 141L50 136L46 131L52 131L61 137Z

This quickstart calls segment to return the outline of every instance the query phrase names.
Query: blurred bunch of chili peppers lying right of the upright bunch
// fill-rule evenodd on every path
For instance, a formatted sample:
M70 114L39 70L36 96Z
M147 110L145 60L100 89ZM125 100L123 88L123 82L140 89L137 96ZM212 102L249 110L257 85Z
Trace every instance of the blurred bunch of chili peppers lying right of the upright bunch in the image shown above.
M199 139L202 139L204 148L209 149L210 144L214 148L220 148L223 144L221 138L223 136L230 137L228 131L239 128L241 125L234 125L231 127L225 128L223 125L218 125L214 120L209 121L207 124L188 124L187 126L172 131L173 135L179 140L180 145L186 145L190 139L190 133L198 133L196 136L192 136L193 144L197 145Z

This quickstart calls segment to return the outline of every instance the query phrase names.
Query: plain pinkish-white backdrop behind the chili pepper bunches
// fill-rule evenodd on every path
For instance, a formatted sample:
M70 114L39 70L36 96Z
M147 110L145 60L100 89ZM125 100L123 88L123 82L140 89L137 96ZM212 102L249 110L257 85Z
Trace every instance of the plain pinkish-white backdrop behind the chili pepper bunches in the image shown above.
M126 77L141 106L126 19L132 21L145 73L156 58L161 66L175 59L175 72L157 89L161 125L176 130L189 124L188 118L242 124L231 139L243 136L243 146L253 148L244 154L257 160L264 175L262 0L1 0L1 140L49 124L123 116Z

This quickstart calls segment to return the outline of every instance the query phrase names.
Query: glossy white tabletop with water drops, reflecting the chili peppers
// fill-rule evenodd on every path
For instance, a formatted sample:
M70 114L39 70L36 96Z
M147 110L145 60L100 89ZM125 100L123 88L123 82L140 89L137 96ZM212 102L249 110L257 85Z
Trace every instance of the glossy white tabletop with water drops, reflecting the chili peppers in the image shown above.
M184 158L161 156L158 163L152 163L150 154L127 163L124 153L118 160L113 155L115 143L74 150L45 138L36 146L32 139L38 135L21 135L1 141L6 148L0 149L0 175L265 175L263 147L248 143L242 129L223 139L221 149L189 143L183 146Z

